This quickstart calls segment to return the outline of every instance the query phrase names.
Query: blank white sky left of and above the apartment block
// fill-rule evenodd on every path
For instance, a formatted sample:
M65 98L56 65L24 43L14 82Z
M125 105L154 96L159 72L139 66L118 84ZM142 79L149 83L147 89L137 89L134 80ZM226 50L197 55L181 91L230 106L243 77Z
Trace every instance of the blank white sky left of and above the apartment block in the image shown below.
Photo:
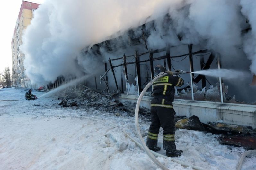
M44 0L27 0L42 4ZM5 0L1 1L2 9L0 10L0 20L2 21L0 31L0 73L4 68L9 66L12 68L12 46L11 41L16 21L20 12L22 0Z

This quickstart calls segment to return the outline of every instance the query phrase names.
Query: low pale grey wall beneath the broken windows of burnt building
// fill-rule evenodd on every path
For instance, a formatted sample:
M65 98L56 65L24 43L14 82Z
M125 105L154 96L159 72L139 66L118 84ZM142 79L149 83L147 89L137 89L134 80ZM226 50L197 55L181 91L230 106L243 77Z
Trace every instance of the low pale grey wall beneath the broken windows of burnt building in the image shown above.
M138 96L121 95L120 102L137 102ZM151 97L143 97L140 106L150 108ZM228 124L246 125L256 128L256 106L246 104L219 103L207 101L191 101L176 99L173 102L176 115L199 117L202 123L223 121Z

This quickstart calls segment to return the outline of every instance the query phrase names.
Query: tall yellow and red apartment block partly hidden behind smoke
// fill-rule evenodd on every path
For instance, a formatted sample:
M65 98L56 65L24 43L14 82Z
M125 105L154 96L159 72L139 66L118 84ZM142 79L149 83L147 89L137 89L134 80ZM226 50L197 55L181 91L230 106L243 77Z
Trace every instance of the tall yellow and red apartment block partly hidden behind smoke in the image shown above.
M25 75L25 68L23 66L24 54L20 51L22 44L22 35L33 18L34 11L40 4L28 1L22 1L18 19L16 21L15 29L12 38L12 76L13 85L16 87L29 87L29 79Z

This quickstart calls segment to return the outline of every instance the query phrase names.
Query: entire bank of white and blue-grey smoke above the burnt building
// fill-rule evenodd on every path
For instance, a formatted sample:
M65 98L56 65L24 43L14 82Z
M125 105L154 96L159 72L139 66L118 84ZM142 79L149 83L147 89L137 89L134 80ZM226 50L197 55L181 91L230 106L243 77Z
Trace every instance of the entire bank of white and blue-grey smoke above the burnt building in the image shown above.
M55 81L61 75L80 76L92 68L102 68L103 58L90 53L82 55L81 50L150 20L155 20L157 31L152 31L147 39L149 48L192 43L218 51L228 59L243 44L241 6L243 14L252 18L250 22L255 18L255 13L250 13L255 7L245 8L250 6L246 2L45 0L35 11L22 39L26 74L33 82L43 83ZM166 14L172 20L170 25L163 20ZM252 24L252 27L255 35L256 26ZM177 35L182 37L181 41ZM248 48L252 47L249 42L247 44ZM251 60L254 58L250 57ZM256 73L252 67L251 71Z

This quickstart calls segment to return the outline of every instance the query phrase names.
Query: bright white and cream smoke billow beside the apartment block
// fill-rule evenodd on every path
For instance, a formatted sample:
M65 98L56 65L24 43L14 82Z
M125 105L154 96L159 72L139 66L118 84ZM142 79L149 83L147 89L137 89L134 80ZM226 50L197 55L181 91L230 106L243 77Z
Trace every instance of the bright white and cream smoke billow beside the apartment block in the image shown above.
M27 76L42 83L60 75L81 75L83 69L78 65L92 64L78 62L77 56L84 47L119 30L143 24L159 2L46 0L35 11L22 39Z

